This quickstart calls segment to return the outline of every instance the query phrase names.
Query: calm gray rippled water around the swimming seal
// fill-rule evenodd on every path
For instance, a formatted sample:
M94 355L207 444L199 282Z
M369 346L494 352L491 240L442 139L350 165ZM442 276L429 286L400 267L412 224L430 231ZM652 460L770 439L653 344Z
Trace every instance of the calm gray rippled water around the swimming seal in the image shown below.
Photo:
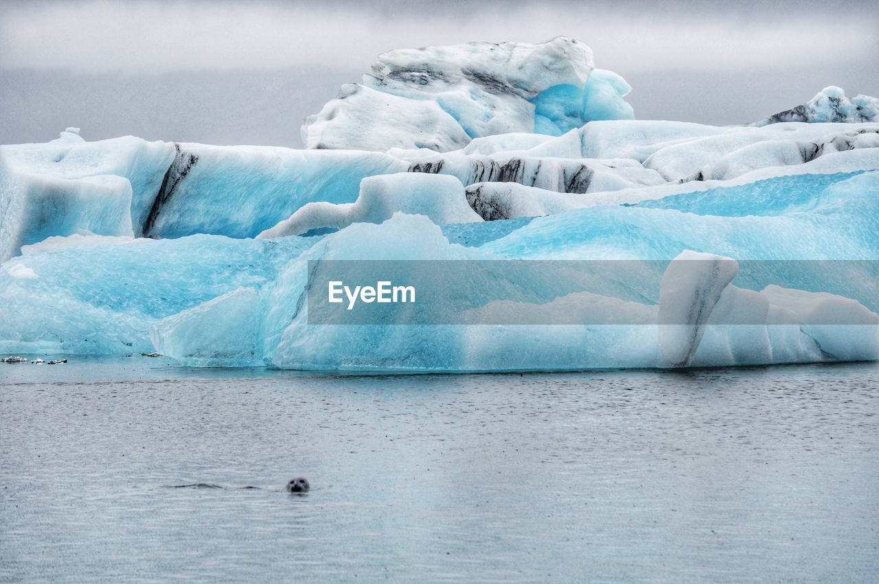
M0 580L875 581L877 413L879 364L0 364Z

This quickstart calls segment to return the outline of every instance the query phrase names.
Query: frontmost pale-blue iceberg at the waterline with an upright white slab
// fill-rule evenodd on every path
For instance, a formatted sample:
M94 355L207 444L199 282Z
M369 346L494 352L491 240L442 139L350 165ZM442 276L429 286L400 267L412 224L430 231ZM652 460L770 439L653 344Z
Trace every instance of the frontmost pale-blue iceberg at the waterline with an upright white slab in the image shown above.
M523 282L516 270L509 272L508 281L468 280L463 284L469 285L465 296L478 305L469 310L478 314L475 324L400 327L387 321L339 326L345 321L336 317L309 321L311 305L304 299L309 292L309 260L313 265L339 259L466 262L486 258L497 259L483 249L449 243L425 216L396 213L381 224L353 224L287 263L275 283L264 288L260 308L253 307L258 302L255 294L246 292L252 301L248 314L262 315L258 341L254 343L250 333L229 335L220 346L227 354L249 356L256 344L265 364L339 371L577 370L879 357L879 315L860 302L774 285L760 292L743 289L731 284L739 270L737 262L692 251L675 256L658 282L650 270L629 271L630 278L622 283L599 274L597 280L590 280L597 292L562 294L545 303L500 306L504 302L494 300L497 292L487 292L528 286L548 296L555 293L550 289L554 283ZM621 294L620 287L628 294ZM210 300L166 320L185 321L183 332L160 323L152 331L156 346L183 363L193 363L193 356L206 353L200 328L209 335L215 329L236 327L241 310L221 310L222 303L232 298ZM530 323L480 324L504 308L527 314ZM571 313L576 311L581 311L577 318L589 324L571 325ZM853 330L857 335L851 334ZM229 342L237 344L230 347ZM250 357L211 363L252 364Z

